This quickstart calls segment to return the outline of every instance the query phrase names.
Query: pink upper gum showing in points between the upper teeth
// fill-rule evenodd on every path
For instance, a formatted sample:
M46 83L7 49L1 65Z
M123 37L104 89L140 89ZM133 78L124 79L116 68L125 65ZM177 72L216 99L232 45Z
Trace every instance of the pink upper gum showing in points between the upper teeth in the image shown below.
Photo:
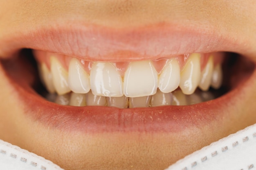
M64 54L57 54L57 53L41 51L41 50L34 50L33 53L36 58L36 61L40 64L45 63L47 65L47 67L49 68L49 70L50 70L50 57L51 56L56 57L58 59L58 61L61 62L61 64L63 65L63 67L66 70L68 70L70 60L73 58L71 56L67 56ZM222 63L225 53L224 52L214 52L214 53L201 54L201 59L200 59L201 70L204 69L204 67L207 64L207 61L211 55L213 55L214 65L217 65L218 63ZM184 67L184 65L186 63L186 60L189 58L189 54L184 54L184 55L180 55L180 56L176 56L176 57L168 57L168 58L165 57L165 58L153 60L153 65L154 65L156 71L158 73L160 73L162 68L168 61L168 59L171 59L171 58L175 58L178 61L178 63L180 64L180 68L182 70L182 68ZM92 64L94 62L85 61L83 59L78 59L78 60L81 61L81 64L83 65L85 71L90 73ZM115 62L114 63L115 66L117 67L117 70L120 72L121 76L124 76L124 72L126 71L126 68L128 67L129 63L130 62Z

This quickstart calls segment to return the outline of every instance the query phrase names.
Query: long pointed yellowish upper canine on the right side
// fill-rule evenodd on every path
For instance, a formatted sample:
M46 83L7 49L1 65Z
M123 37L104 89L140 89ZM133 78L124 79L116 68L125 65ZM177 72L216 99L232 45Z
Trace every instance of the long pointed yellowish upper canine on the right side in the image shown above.
M180 73L180 89L184 94L192 94L200 81L200 54L193 53Z

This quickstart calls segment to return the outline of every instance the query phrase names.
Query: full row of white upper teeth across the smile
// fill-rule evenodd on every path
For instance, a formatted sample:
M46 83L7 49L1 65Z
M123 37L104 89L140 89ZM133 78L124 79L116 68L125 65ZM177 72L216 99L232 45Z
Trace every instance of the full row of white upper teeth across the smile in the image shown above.
M130 62L122 76L123 74L119 72L115 63L95 62L89 73L85 71L79 59L72 58L66 69L57 57L52 56L50 70L45 63L41 63L40 74L47 90L50 93L56 91L59 95L70 91L85 94L91 89L92 94L97 96L121 97L125 95L135 98L152 96L157 93L157 88L163 93L170 93L179 86L184 94L193 94L198 86L204 91L208 90L210 85L214 88L220 87L222 81L220 64L214 68L214 58L211 56L201 72L200 57L201 54L190 54L184 66L180 66L177 58L166 59L166 64L160 71L155 69L152 61ZM72 97L79 98L78 95ZM83 102L83 96L80 96L80 99ZM97 102L96 99L94 102ZM102 102L100 98L99 102ZM111 102L113 105L118 105L115 100ZM168 99L168 102L171 101Z

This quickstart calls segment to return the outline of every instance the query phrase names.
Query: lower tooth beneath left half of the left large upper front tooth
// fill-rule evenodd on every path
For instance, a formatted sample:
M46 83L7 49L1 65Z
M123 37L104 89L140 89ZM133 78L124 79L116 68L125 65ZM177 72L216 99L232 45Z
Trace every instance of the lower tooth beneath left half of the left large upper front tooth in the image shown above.
M86 95L86 105L87 106L106 106L105 96L96 96L89 91Z

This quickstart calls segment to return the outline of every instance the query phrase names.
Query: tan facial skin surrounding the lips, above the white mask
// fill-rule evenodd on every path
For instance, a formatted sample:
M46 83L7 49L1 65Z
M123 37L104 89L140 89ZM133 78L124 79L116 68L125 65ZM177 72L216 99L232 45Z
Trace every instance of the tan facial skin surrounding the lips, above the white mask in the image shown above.
M0 43L53 23L82 22L112 30L154 24L213 27L238 41L238 52L256 59L256 1L246 0L0 0ZM22 31L20 31L22 30ZM243 43L241 43L243 42ZM0 46L1 52L1 46ZM2 56L1 56L2 55ZM0 57L4 53L0 53ZM53 161L64 169L164 169L193 151L256 123L256 74L241 85L216 119L177 132L83 133L47 127L30 110L0 65L0 139ZM245 100L246 99L246 100ZM202 120L204 121L204 120Z

